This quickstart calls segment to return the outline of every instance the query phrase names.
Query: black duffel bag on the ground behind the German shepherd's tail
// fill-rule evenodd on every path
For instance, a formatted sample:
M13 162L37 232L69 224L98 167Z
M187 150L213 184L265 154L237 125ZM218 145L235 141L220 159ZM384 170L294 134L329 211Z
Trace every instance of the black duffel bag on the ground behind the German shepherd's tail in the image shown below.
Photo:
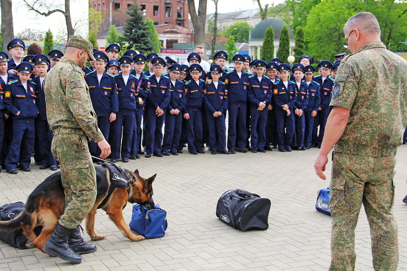
M0 220L11 220L13 217L17 216L24 209L24 203L18 201L14 203L7 203L0 206ZM41 232L42 227L37 226L34 228L34 233L38 236ZM22 229L16 231L0 231L0 240L11 245L17 249L28 249L25 246L27 238L22 233Z

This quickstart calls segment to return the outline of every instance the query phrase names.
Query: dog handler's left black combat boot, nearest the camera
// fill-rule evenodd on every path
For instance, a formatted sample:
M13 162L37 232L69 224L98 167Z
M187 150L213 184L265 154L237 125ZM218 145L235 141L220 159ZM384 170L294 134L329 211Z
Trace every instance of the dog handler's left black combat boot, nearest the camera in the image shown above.
M62 260L72 264L80 264L82 257L74 253L68 245L69 234L72 230L63 227L61 224L56 226L54 233L48 239L43 251L51 256L58 256Z

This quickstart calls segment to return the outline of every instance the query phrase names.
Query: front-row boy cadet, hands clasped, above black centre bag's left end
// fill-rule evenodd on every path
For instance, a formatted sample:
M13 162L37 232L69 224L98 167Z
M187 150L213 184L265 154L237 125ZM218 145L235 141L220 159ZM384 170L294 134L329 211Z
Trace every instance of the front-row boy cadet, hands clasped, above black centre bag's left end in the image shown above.
M225 115L227 110L227 89L226 84L219 81L222 68L215 64L210 67L212 82L204 85L204 104L206 113L206 123L209 133L209 145L212 154L226 151L226 127Z

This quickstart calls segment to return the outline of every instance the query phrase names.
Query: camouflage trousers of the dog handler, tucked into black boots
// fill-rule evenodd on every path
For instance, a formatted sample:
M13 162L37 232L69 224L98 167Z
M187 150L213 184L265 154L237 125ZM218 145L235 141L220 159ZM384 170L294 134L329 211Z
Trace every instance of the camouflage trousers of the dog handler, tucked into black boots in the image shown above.
M96 170L85 133L79 129L54 131L52 153L61 164L65 193L64 213L59 224L75 229L89 213L96 200Z

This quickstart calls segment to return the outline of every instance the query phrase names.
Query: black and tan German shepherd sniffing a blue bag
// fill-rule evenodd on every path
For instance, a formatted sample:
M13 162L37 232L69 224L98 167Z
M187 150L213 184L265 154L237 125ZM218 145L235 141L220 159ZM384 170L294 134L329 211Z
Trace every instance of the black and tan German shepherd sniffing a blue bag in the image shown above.
M134 235L124 221L122 209L127 201L139 203L147 209L154 208L152 183L157 174L148 179L139 175L136 169L134 172L128 171L128 187L115 187L107 202L99 206L105 197L108 196L110 186L110 173L106 167L96 167L97 196L95 204L85 218L86 231L92 240L102 240L105 236L96 234L95 215L98 208L103 209L109 218L116 224L123 235L132 241L144 240L141 235ZM48 176L40 183L28 196L24 210L9 221L0 221L0 230L15 231L22 228L27 238L26 247L36 247L44 252L46 242L54 232L59 217L64 212L65 194L61 182L61 173L56 172ZM37 237L33 231L36 226L42 226L42 231Z

